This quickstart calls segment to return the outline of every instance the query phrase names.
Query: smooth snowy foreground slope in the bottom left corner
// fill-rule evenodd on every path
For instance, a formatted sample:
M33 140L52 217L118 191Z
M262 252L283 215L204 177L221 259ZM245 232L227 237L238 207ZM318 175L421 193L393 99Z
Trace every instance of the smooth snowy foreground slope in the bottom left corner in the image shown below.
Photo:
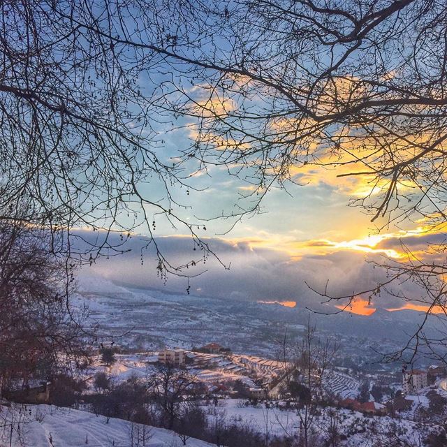
M50 405L1 406L0 446L10 446L10 423L14 420L13 447L130 447L133 428L133 445L136 446L138 427L142 437L145 427L147 447L179 447L182 441L175 432L162 428L131 424L127 420L95 416L94 413ZM17 427L19 430L17 430ZM20 434L19 434L20 432ZM140 445L142 445L140 441ZM198 439L188 439L186 446L211 447Z

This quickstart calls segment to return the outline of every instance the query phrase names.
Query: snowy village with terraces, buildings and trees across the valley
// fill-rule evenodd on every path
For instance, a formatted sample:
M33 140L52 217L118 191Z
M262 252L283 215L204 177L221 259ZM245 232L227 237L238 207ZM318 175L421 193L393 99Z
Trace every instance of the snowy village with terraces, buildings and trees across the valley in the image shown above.
M404 432L408 431L409 436L415 430L423 430L428 435L433 425L427 422L427 417L437 420L437 416L447 411L445 367L432 365L426 370L402 368L395 374L359 374L331 365L323 373L312 372L314 383L307 383L302 376L303 368L305 365L300 361L233 353L228 346L216 342L191 349L166 347L137 353L125 353L116 344L103 345L96 349L91 364L77 382L69 379L64 383L60 377L54 381L33 379L27 386L3 388L1 404L6 409L24 404L33 411L51 414L53 409L66 407L70 411L103 415L106 421L114 414L126 419L129 410L124 413L112 410L119 402L120 393L123 390L129 393L130 401L126 403L126 397L120 404L123 409L129 408L126 405L131 405L132 411L150 408L142 396L159 376L161 381L155 393L160 396L149 397L151 402L163 399L163 394L168 392L168 399L172 398L176 406L183 402L187 405L184 408L188 408L191 402L196 402L194 405L198 407L191 408L200 408L209 420L215 423L219 420L219 424L227 427L236 424L237 430L251 427L254 433L266 430L263 420L267 417L270 418L269 433L277 439L284 439L286 432L300 437L302 423L295 419L297 411L311 405L312 411L320 414L316 416L319 424L327 425L334 415L337 420L344 420L346 427L340 433L345 431L343 436L352 442L370 424L379 424L388 430L392 421ZM182 388L184 381L189 385ZM312 388L312 401L306 397L303 400L307 386ZM43 409L37 410L39 407ZM65 418L65 414L61 413L60 417ZM153 417L145 416L140 422L172 428L155 423ZM181 426L175 430L181 430ZM196 436L212 438L211 434L208 438Z

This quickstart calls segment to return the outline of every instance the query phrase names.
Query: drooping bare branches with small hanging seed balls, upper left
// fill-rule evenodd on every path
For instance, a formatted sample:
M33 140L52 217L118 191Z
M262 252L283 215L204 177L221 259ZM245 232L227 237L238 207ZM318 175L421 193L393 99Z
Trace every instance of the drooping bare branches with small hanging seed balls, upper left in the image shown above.
M201 222L186 219L173 193L194 189L191 172L163 149L166 126L154 106L170 77L163 48L180 43L171 28L186 39L193 10L152 0L1 3L1 219L20 205L24 221L66 232L55 252L89 263L125 251L136 231L149 235L162 275L206 260ZM166 260L156 224L186 228L196 258ZM73 232L79 227L105 233L85 237ZM121 242L110 242L110 231Z

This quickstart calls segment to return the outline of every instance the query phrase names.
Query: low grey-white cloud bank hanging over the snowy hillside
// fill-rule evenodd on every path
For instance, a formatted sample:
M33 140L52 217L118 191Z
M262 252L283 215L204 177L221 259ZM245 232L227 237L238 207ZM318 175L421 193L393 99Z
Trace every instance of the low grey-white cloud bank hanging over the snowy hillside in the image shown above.
M84 235L84 237L89 237ZM118 235L112 235L119 242ZM254 240L258 242L258 240ZM80 275L98 275L117 284L143 288L161 288L175 293L186 293L188 285L184 277L169 276L166 284L156 274L156 256L152 245L148 248L145 237L133 237L125 247L131 249L126 254L109 259L100 258L91 267L82 268ZM194 259L196 268L183 273L198 274L189 281L191 294L215 298L231 298L251 301L294 301L297 308L328 309L321 295L309 286L332 295L352 295L374 288L378 281L386 279L385 272L365 262L365 254L360 251L336 250L327 254L305 254L294 258L286 251L266 247L253 247L253 241L232 241L219 238L207 240L210 247L226 265L226 270L216 259L208 258L205 265L203 253L193 251L190 237L161 237L156 240L163 255L170 261L182 264ZM141 254L143 264L141 264ZM379 254L369 254L369 260L383 261ZM205 270L207 270L205 272ZM309 286L307 286L309 284ZM400 284L400 293L418 298L417 287L410 282ZM365 298L359 298L365 299ZM344 302L330 302L329 306ZM383 291L374 299L371 307L398 309L406 302L392 293Z

